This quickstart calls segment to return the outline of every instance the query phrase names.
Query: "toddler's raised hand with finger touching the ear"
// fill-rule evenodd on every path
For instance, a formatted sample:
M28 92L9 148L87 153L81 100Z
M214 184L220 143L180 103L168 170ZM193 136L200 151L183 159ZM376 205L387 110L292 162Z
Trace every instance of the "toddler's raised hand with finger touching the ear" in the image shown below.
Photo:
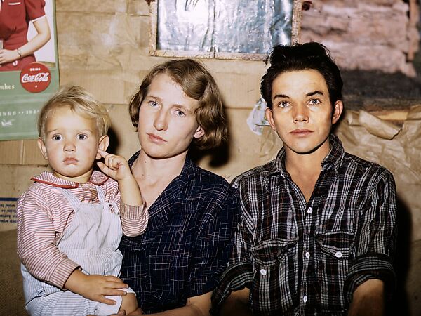
M108 152L100 149L98 149L98 154L104 158L103 163L97 162L98 167L107 176L117 181L131 178L132 175L130 166L128 166L126 159L115 154L109 154Z

